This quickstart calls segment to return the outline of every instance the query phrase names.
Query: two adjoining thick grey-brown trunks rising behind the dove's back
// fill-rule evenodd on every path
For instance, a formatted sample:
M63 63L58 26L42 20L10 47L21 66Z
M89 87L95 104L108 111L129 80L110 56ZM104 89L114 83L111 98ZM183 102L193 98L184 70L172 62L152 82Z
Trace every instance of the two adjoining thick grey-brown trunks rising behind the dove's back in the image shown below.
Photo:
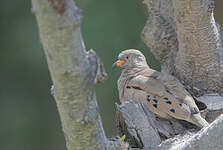
M190 92L222 94L223 49L213 0L144 0L148 10L142 38Z

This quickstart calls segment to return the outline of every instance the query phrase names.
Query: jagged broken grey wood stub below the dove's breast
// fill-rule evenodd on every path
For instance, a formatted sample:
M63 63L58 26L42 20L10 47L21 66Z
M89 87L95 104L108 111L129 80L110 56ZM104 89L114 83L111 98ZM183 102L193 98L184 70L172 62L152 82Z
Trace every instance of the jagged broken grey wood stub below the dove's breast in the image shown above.
M161 142L157 129L151 126L155 121L154 115L147 113L148 110L144 110L146 107L140 102L130 101L123 105L116 104L116 107L119 134L126 135L132 147L143 148L150 143L150 147L154 148Z

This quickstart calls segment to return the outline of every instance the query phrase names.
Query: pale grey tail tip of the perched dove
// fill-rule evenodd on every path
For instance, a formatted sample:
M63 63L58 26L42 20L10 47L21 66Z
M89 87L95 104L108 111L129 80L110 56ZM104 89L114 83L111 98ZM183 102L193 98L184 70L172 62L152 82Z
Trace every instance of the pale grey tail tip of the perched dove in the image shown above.
M190 119L192 123L194 123L200 128L203 128L209 125L209 123L204 118L201 117L200 113L191 115Z

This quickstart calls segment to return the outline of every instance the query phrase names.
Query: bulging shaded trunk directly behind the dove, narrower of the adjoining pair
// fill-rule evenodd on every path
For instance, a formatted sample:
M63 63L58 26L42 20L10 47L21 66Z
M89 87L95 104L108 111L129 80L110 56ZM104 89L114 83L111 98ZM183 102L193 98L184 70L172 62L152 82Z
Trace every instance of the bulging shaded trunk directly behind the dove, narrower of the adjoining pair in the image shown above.
M147 7L147 22L142 39L162 64L162 72L175 74L178 52L172 0L143 0Z

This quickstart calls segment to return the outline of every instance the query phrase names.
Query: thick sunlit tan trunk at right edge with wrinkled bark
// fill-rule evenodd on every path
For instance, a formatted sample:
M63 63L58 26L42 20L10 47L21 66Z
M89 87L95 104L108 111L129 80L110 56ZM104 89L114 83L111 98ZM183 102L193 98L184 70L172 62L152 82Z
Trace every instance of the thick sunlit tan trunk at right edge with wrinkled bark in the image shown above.
M172 0L179 52L177 77L200 93L219 93L222 88L222 43L214 20L213 0Z

